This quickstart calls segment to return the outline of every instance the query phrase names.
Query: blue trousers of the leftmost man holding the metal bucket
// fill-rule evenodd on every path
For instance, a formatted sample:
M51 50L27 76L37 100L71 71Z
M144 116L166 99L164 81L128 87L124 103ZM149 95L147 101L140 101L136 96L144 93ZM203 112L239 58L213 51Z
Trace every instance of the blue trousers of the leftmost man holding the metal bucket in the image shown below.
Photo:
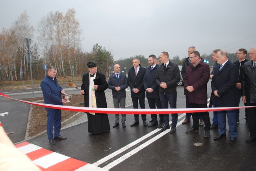
M54 127L54 136L59 136L61 128L61 110L47 110L47 136L51 140L53 136L53 127Z

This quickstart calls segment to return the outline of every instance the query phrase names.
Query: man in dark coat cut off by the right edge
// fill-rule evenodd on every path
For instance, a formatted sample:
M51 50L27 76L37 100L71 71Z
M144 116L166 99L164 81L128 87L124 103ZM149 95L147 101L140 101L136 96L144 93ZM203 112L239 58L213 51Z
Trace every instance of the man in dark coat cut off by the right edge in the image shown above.
M256 47L250 49L250 61L243 65L242 96L246 106L256 106ZM256 107L247 109L247 123L250 137L246 142L256 140Z

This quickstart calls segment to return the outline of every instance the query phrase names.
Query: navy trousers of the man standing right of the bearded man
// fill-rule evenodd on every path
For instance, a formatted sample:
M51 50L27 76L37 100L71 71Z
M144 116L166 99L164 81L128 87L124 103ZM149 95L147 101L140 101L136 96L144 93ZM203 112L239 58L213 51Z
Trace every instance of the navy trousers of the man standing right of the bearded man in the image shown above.
M168 109L168 102L171 109L176 109L177 94L159 94L163 109ZM172 114L172 127L176 127L178 121L178 113ZM169 114L163 114L163 122L165 126L169 125Z

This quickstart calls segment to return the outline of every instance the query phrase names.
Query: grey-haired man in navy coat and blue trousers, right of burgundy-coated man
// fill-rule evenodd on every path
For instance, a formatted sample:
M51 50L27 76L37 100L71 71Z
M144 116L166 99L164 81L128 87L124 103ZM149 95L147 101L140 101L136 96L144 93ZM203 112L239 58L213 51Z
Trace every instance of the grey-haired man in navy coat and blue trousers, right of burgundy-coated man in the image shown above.
M236 103L236 82L239 70L235 64L228 60L226 51L219 51L216 55L220 64L216 69L211 81L211 89L215 95L216 107L234 107ZM236 110L218 111L219 134L214 140L226 137L226 116L230 131L229 144L234 144L237 138Z

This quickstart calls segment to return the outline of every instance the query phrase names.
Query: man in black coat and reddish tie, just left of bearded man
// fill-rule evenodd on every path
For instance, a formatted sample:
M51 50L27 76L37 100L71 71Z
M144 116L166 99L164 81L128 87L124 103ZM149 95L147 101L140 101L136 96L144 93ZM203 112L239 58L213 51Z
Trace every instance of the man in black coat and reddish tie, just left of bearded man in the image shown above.
M127 83L131 88L131 97L132 97L132 104L134 109L138 109L138 100L139 106L141 109L145 109L145 89L143 85L143 77L145 75L146 69L141 67L139 58L134 58L132 60L132 64L134 65L132 68L129 69ZM146 120L146 115L141 115L143 125L148 126ZM139 115L134 115L134 123L131 125L136 126L139 125Z

